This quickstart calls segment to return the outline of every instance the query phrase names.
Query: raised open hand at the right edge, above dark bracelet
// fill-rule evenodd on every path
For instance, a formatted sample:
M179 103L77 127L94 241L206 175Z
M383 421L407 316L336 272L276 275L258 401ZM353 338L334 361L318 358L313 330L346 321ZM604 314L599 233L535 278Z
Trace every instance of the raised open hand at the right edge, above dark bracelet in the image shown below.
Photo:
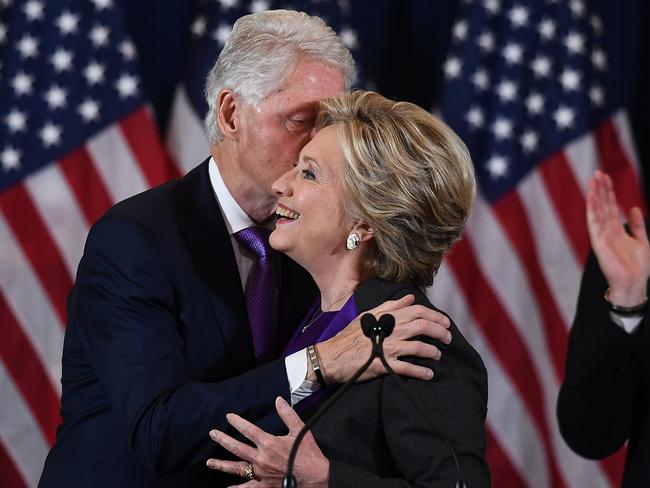
M587 227L594 254L609 285L611 302L633 307L646 297L650 277L650 244L641 210L630 210L632 235L619 220L611 178L596 171L589 180Z

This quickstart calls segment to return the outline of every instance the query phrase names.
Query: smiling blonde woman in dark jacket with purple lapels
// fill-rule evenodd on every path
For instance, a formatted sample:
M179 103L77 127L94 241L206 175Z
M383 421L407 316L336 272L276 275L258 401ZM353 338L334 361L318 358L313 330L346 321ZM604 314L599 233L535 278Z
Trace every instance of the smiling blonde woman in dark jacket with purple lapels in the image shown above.
M409 293L433 308L422 290L460 237L476 190L464 144L413 104L358 91L322 102L316 128L296 167L274 184L279 204L271 245L309 271L320 290L320 303L285 351L315 343L317 367L322 341L348 323L345 317ZM450 345L435 343L442 358L421 362L434 370L434 379L405 381L455 449L468 486L486 487L486 372L456 326L449 330ZM326 385L336 374L321 371L319 379ZM328 394L331 388L321 389L297 410L308 418L318 406L314 397ZM285 402L277 406L288 436L269 436L229 415L256 447L213 431L213 439L244 461L208 465L254 475L247 487L280 486L302 423ZM302 460L299 454L296 466L313 480L309 486L455 485L443 439L390 377L352 386L312 434L321 452ZM313 446L314 439L306 442Z

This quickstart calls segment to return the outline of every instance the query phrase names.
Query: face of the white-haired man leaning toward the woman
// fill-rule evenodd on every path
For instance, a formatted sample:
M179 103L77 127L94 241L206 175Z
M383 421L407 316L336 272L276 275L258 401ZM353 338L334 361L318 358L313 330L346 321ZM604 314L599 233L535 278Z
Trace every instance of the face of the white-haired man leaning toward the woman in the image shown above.
M309 142L318 101L344 89L340 70L305 57L298 60L280 89L269 94L259 107L238 106L239 170L252 183L255 194L269 198L270 213L275 210L271 184L296 164L300 150Z

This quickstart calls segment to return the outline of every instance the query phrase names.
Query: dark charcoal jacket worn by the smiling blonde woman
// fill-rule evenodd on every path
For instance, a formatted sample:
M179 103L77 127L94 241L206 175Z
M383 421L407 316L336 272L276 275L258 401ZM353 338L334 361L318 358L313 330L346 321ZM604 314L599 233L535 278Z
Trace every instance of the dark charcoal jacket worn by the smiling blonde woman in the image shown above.
M434 308L410 282L374 278L354 296L362 313L409 293L415 294L416 303ZM453 323L450 331L453 339L448 346L428 340L443 351L439 361L408 358L433 369L434 379L405 382L456 450L468 486L488 488L487 373L478 353ZM329 486L333 488L448 488L456 484L456 468L440 436L389 376L353 385L319 420L313 434L331 461Z

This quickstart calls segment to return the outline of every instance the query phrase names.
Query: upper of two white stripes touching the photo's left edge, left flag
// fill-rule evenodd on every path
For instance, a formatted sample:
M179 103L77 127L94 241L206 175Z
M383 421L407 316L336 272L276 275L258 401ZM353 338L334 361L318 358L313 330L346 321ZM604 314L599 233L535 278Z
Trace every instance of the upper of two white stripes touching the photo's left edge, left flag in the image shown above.
M61 393L63 324L0 212L0 292Z

